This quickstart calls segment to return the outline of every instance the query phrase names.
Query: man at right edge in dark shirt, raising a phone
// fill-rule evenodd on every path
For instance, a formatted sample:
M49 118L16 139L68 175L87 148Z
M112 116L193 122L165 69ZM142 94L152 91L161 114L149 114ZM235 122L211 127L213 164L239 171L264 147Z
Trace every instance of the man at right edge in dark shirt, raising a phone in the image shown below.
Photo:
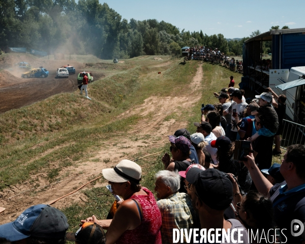
M253 154L245 161L253 182L261 194L270 198L275 211L275 222L285 243L301 243L302 236L292 235L291 223L305 222L305 145L291 145L282 160L280 172L285 181L273 186L262 174L254 161Z

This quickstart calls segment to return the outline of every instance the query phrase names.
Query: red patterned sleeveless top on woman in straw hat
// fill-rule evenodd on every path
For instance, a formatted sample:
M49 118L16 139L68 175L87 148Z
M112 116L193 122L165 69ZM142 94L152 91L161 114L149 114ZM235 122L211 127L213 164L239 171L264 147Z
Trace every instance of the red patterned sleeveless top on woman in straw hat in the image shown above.
M145 195L132 195L142 207L141 224L134 230L127 230L115 242L116 244L161 244L162 217L153 193L142 187Z

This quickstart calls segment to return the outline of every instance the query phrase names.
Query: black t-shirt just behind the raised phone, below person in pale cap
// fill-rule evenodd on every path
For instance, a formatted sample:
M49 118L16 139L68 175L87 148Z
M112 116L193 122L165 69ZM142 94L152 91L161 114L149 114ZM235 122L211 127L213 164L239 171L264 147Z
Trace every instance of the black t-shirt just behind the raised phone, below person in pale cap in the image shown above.
M271 167L273 138L274 136L259 136L253 142L253 150L258 153L255 157L255 163L260 170Z

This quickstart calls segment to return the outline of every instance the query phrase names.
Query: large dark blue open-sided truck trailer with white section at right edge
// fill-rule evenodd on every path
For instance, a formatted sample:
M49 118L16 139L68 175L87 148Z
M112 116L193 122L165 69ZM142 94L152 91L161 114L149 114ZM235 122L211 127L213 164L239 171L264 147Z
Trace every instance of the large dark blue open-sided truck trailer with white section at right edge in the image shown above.
M271 55L263 54L263 43L271 42ZM271 87L287 97L288 118L305 123L305 28L272 29L245 41L242 47L243 77L240 87L261 94ZM269 64L269 65L266 65ZM301 82L294 82L301 79ZM294 82L289 89L280 85ZM292 84L292 83L291 83Z

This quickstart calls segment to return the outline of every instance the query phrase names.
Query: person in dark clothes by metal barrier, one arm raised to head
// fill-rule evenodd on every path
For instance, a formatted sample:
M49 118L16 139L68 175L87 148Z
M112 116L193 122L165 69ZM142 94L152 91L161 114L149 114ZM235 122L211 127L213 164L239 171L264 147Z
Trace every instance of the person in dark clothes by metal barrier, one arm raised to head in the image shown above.
M283 119L286 118L286 96L284 94L278 96L273 90L268 87L267 88L270 93L272 93L272 106L275 108L277 114L278 114L278 121L279 121L279 129L275 135L275 144L276 147L273 149L273 155L280 155L282 154L282 151L280 149L281 145L281 133L283 129Z

